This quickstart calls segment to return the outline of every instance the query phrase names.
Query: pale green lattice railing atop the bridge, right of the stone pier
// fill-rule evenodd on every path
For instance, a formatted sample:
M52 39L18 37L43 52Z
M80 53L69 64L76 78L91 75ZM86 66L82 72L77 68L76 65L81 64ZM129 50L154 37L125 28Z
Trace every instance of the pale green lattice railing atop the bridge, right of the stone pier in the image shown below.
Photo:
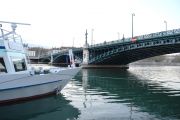
M164 36L170 36L170 35L176 35L176 34L180 34L180 29L173 29L173 30L168 30L168 31L140 35L140 36L136 36L134 38L136 38L137 40L144 40L144 39L164 37ZM112 44L116 44L116 43L131 42L131 41L132 41L132 38L125 38L125 39L119 39L119 40L114 40L114 41L110 41L110 42L104 41L103 43L91 45L89 47L99 47L99 46L105 46L105 45L112 45Z

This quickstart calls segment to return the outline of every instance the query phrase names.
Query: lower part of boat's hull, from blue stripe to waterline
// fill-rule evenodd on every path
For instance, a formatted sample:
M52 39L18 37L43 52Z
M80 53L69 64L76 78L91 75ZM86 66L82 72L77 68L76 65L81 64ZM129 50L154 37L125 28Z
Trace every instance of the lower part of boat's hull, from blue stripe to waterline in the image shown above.
M28 86L28 87L7 89L4 91L0 91L0 96L1 96L0 104L9 104L19 101L27 101L31 99L36 99L36 98L41 98L44 96L56 94L57 93L56 89L58 88L57 84L60 83L54 82L54 83L47 83L42 85Z

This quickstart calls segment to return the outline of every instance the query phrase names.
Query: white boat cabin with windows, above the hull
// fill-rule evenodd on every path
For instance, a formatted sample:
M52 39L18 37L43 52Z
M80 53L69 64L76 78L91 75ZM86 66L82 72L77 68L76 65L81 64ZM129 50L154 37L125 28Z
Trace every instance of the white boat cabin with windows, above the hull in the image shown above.
M20 35L0 25L0 74L27 72L26 52Z

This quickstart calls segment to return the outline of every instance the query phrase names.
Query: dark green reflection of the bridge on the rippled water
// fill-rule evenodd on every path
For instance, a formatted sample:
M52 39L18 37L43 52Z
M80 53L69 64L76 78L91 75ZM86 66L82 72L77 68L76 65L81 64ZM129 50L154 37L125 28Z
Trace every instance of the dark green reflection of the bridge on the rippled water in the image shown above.
M122 103L131 110L138 108L136 112L146 112L156 119L180 119L180 89L165 87L157 80L117 69L84 69L76 79L87 93L96 90L107 96L108 103Z

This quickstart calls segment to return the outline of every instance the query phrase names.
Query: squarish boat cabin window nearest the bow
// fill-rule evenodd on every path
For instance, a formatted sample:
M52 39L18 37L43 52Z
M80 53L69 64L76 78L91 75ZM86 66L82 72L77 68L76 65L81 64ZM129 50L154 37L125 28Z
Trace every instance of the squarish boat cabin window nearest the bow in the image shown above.
M27 70L25 59L12 58L12 61L16 72Z

